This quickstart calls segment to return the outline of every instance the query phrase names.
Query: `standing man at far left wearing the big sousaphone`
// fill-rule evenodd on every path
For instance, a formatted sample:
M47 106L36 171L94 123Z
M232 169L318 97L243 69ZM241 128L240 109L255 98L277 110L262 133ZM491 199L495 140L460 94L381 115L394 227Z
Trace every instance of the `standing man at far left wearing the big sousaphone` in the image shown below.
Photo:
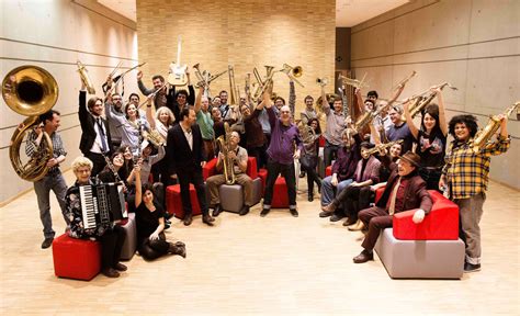
M36 192L36 198L38 200L39 219L44 226L43 232L45 239L42 242L42 249L46 249L53 245L54 235L56 234L53 230L53 219L50 216L50 190L54 191L54 194L58 200L65 223L67 223L67 227L70 225L65 205L67 184L65 183L64 176L59 170L59 163L64 162L65 156L67 156L61 136L59 136L59 134L56 132L60 123L59 115L59 112L54 110L39 115L39 122L42 122L43 126L39 125L31 132L25 145L25 154L27 154L30 157L33 156L42 145L41 142L42 137L44 136L44 132L48 134L53 144L53 158L47 161L48 171L44 178L33 183L34 192Z

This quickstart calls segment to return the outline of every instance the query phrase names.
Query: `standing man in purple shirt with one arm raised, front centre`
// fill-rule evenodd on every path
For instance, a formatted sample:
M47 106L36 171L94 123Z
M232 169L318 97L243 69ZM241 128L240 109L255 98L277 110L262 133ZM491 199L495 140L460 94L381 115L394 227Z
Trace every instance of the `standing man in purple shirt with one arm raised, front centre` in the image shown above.
M270 93L263 93L269 123L271 125L271 143L268 148L268 179L265 183L265 194L263 196L263 210L260 216L265 216L271 211L274 182L280 173L285 178L289 194L289 211L294 217L298 216L296 211L296 176L294 173L294 159L299 158L303 143L299 138L299 131L291 123L291 109L283 105L280 109L280 119L276 117Z

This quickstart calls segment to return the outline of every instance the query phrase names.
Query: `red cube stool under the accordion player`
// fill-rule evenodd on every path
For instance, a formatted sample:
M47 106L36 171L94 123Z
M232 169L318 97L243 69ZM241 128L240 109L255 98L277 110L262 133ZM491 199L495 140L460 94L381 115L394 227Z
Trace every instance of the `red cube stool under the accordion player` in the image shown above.
M56 276L92 280L101 271L101 244L64 234L53 241L53 260Z

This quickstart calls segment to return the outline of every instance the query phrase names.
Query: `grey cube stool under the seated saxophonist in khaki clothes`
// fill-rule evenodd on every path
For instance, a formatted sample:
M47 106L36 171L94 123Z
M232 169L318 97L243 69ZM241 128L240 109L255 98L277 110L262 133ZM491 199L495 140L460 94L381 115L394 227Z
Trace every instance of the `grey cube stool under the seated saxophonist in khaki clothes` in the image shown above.
M244 206L244 189L240 184L223 184L218 188L222 210L239 213ZM257 178L252 180L253 205L262 199L262 180ZM252 205L251 205L252 206Z

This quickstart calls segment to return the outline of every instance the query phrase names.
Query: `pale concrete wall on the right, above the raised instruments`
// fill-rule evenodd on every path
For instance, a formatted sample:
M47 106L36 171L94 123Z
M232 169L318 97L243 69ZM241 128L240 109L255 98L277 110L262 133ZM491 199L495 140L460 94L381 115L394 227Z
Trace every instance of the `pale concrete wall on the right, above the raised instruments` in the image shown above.
M352 27L351 67L383 98L411 70L418 76L404 98L449 81L459 90L444 90L446 115L471 113L484 127L487 115L520 101L519 21L518 0L411 1ZM508 129L511 148L491 159L490 177L520 189L516 117Z

